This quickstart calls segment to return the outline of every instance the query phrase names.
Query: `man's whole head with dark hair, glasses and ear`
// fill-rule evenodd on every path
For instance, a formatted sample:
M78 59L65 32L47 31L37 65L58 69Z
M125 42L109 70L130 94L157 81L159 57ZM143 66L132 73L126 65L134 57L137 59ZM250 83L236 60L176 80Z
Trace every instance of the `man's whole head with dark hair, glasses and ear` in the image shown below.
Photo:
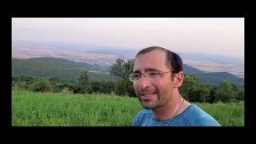
M146 109L164 106L173 95L179 94L183 77L182 59L170 50L152 46L135 57L134 91Z

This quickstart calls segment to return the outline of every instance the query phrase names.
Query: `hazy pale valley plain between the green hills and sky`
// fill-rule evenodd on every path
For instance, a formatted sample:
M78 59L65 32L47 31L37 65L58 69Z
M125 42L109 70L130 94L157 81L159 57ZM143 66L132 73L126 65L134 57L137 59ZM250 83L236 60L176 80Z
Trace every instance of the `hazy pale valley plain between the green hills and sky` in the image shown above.
M92 74L108 74L108 68L114 64L117 58L134 58L138 50L135 49L118 49L104 46L87 46L69 43L40 43L40 42L13 42L12 45L12 58L18 59L28 59L28 58L60 58L65 60L70 60L72 62L80 62L90 64L91 66L105 66L105 70L90 70ZM229 62L228 58L221 58L208 56L208 55L198 55L194 54L184 54L181 55L184 65L192 66L195 70L200 70L202 73L208 74L231 74L228 77L239 77L240 80L236 80L243 85L244 77L244 65L243 61L232 60L233 64ZM39 59L38 59L39 60ZM53 61L51 61L53 62ZM185 69L186 71L186 69ZM202 74L194 73L194 74ZM190 74L190 72L189 72ZM205 74L205 75L206 75ZM234 75L232 75L234 74ZM202 74L203 75L203 74ZM202 76L201 78L207 78L207 76ZM211 76L211 78L214 78ZM218 79L218 78L217 78ZM235 79L235 78L233 78ZM218 82L218 80L216 81Z

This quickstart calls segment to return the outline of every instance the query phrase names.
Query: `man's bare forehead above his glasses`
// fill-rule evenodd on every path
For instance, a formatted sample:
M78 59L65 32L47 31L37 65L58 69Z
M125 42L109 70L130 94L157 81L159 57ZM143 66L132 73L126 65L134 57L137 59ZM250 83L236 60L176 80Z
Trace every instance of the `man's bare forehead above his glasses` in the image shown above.
M166 66L166 52L153 50L146 54L138 55L134 62L134 71L145 71L147 69L169 70Z

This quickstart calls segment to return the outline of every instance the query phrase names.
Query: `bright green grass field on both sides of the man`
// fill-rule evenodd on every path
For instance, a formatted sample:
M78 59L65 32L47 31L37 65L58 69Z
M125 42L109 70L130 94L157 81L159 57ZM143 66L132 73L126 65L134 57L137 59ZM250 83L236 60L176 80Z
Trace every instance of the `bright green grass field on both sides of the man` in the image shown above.
M222 126L244 126L244 105L195 103ZM137 98L12 91L12 126L131 126Z

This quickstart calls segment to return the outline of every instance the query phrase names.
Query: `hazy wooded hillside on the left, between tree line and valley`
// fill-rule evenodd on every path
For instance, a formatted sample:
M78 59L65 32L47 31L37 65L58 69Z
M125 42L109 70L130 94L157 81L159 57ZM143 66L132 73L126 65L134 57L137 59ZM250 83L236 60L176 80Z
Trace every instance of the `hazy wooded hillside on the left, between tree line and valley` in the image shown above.
M58 77L67 81L77 81L82 70L109 70L103 66L88 66L87 64L82 64L82 62L78 63L62 59L58 60L58 58L43 59L41 59L41 62L36 59L30 60L13 58L12 75L26 75L45 78ZM102 79L104 81L115 81L118 79L110 74L95 74L92 72L89 72L88 74L90 75L90 81L102 81Z

